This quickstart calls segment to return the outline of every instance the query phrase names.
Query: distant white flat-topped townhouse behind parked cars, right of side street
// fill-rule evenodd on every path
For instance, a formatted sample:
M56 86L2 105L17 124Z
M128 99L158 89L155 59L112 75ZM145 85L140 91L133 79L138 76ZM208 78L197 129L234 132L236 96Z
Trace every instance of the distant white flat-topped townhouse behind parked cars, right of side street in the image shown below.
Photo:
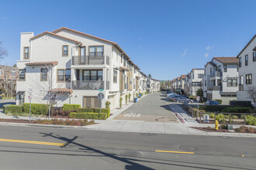
M203 69L192 69L189 73L189 79L188 82L188 95L195 96L196 92L202 88L202 76L203 76Z

